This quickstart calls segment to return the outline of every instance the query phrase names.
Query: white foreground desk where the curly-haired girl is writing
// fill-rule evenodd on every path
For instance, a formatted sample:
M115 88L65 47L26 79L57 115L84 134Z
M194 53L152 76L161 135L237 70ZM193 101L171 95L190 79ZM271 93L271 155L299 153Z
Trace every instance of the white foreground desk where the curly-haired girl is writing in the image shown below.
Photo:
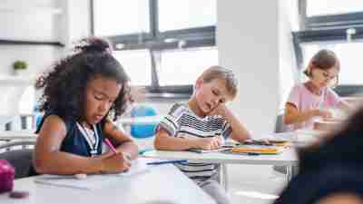
M2 204L215 204L202 189L176 167L166 164L120 180L104 189L71 189L34 183L34 177L15 180L15 190L29 191L27 199L0 194Z

